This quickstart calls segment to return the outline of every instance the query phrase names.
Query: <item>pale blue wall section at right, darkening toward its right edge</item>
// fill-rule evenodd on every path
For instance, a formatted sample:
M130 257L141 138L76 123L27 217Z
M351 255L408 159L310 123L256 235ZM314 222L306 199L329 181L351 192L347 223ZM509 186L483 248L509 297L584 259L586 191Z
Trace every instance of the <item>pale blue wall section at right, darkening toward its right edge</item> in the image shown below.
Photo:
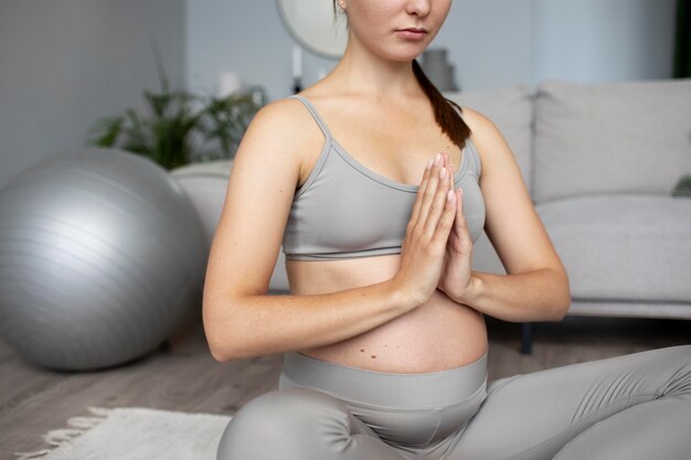
M676 0L535 0L533 81L671 76Z

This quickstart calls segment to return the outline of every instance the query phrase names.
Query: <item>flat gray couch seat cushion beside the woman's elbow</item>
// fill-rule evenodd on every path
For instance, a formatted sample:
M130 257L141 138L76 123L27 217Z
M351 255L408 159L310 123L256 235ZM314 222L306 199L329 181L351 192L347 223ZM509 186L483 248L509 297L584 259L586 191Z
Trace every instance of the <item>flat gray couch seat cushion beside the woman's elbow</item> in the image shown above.
M691 302L691 200L613 194L536 210L574 299Z

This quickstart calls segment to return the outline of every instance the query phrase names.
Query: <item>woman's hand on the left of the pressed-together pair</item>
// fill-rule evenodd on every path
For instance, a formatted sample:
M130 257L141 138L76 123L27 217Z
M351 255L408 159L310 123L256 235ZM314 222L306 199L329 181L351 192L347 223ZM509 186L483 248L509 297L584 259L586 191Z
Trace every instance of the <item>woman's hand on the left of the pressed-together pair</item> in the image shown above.
M415 304L425 303L439 284L445 249L456 215L454 174L445 156L427 163L401 248L393 281Z

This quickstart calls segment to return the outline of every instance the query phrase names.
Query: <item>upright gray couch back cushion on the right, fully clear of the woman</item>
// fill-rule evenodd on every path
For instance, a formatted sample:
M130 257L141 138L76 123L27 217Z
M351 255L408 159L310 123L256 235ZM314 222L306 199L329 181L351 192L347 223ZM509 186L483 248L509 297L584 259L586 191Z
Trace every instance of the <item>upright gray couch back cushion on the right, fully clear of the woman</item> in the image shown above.
M691 171L691 79L545 83L535 103L533 199L669 194Z

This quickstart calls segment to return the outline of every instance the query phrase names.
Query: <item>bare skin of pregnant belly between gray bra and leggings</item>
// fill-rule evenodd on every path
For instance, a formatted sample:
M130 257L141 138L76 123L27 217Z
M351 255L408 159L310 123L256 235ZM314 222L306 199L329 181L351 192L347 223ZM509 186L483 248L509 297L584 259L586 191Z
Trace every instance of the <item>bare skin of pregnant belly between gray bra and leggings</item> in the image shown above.
M295 295L336 292L391 279L398 255L286 265ZM351 367L392 373L444 371L472 363L487 351L480 313L436 291L423 306L343 342L301 353Z

